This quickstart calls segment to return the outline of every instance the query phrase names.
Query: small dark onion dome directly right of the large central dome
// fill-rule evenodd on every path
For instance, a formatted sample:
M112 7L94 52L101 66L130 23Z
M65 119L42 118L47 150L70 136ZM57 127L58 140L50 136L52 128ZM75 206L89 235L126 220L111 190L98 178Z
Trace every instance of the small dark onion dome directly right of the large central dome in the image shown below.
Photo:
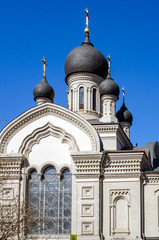
M108 76L106 77L106 79L100 83L99 93L101 96L106 94L111 94L119 98L119 86L111 78L110 73L108 73Z

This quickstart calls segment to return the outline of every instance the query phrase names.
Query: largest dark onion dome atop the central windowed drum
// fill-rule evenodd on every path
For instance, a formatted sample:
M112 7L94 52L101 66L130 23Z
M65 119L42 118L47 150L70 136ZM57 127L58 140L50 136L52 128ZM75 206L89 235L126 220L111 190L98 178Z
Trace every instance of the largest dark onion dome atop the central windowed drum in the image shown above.
M66 78L72 73L94 73L102 78L108 74L108 63L104 55L90 43L89 35L81 46L74 48L65 61Z

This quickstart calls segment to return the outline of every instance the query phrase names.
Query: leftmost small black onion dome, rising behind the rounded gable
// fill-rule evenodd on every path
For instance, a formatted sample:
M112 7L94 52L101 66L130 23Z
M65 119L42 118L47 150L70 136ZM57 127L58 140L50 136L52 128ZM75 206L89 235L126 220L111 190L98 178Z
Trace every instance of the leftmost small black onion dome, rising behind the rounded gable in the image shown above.
M34 100L37 97L45 97L45 98L51 99L52 101L53 101L54 95L55 95L54 90L48 84L46 77L43 77L41 82L35 86L33 94L34 94Z

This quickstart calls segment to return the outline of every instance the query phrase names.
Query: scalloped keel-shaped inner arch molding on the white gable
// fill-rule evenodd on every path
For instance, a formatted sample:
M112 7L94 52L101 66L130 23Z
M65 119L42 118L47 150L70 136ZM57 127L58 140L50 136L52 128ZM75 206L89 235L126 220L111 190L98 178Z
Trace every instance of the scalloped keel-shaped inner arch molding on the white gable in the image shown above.
M46 125L35 129L23 140L19 152L28 156L33 145L38 144L41 139L48 136L59 138L61 143L66 143L68 145L70 151L79 151L76 140L73 136L67 133L64 129L56 127L48 122Z

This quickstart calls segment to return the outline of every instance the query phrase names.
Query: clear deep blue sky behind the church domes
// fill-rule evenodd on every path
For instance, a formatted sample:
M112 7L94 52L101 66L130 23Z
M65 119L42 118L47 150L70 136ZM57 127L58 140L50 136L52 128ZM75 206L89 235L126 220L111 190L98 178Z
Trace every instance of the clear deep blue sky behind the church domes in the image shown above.
M132 143L158 140L158 0L1 1L0 115L9 123L36 105L33 89L42 79L44 56L54 102L67 106L64 63L84 40L85 8L91 42L105 56L111 54L111 75L120 89L125 86L126 106L134 117ZM117 110L121 104L120 93Z

